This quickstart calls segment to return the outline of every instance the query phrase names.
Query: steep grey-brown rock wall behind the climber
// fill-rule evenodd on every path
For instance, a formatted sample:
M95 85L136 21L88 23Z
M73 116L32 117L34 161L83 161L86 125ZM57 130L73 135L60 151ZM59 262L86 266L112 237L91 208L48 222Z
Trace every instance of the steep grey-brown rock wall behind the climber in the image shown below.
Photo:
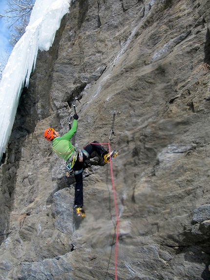
M210 0L75 0L24 88L0 166L0 280L210 279ZM43 138L107 142L74 176ZM94 157L94 155L93 155Z

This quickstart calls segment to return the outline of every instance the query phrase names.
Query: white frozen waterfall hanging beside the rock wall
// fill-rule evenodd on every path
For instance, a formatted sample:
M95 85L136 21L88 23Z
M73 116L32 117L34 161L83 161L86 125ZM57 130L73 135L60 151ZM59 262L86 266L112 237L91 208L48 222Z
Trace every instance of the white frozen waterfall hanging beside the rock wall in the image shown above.
M25 33L15 45L0 81L0 158L9 140L22 87L28 86L38 50L52 45L71 0L36 0Z

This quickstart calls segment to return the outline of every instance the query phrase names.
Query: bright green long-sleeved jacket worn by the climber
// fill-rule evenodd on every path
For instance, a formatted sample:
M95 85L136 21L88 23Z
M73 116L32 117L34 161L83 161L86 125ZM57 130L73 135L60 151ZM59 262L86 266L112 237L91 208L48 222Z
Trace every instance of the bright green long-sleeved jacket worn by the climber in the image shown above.
M67 133L65 133L62 137L56 137L52 140L52 150L65 161L67 161L75 151L75 147L71 144L70 139L76 131L77 120L74 120L72 128Z

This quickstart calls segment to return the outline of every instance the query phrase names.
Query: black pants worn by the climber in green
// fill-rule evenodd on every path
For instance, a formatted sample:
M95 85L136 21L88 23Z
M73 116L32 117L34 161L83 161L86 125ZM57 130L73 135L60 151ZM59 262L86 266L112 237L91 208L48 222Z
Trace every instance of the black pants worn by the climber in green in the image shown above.
M88 144L84 148L84 150L87 151L89 156L91 155L91 153L93 151L96 151L98 153L98 155L100 155L101 157L104 157L104 155L106 153L108 153L108 151L106 151L101 145L94 144L94 143L98 143L98 142L94 141L92 144ZM87 156L83 153L83 161L80 162L79 157L77 157L77 160L72 168L73 171L76 172L74 174L75 180L76 180L75 196L74 196L74 205L75 206L83 206L83 171L78 174L77 174L77 172L83 170L84 161L86 159L87 159Z

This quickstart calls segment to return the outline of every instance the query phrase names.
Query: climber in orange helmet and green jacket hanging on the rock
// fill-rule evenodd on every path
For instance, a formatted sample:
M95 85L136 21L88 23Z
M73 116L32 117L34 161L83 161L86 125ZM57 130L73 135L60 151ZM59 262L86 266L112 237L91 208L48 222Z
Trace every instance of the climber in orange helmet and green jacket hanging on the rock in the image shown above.
M83 209L83 167L84 161L90 158L93 151L96 151L105 161L105 163L110 161L110 156L117 156L117 151L111 151L109 154L98 142L94 141L89 143L83 150L77 150L70 142L70 139L77 131L77 120L78 115L74 114L74 121L72 128L65 133L62 137L59 136L53 128L46 129L44 131L44 137L48 141L52 141L52 150L62 157L66 163L67 168L73 171L76 185L75 185L75 197L74 197L74 207L78 216L85 216Z

